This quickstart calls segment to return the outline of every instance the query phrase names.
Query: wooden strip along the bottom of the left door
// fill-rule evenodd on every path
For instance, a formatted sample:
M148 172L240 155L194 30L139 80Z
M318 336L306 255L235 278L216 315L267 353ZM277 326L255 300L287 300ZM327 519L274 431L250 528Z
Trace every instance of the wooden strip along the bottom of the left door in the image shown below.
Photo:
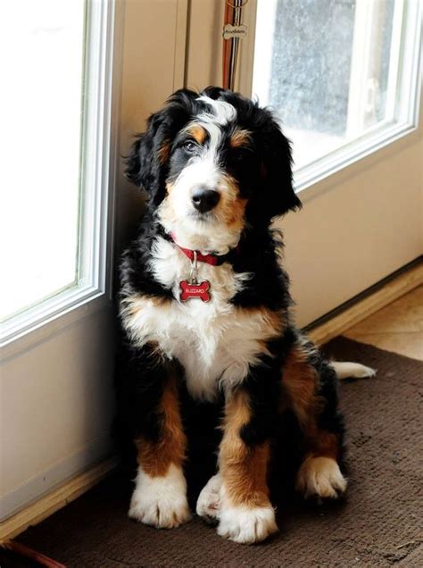
M30 525L44 521L46 517L71 503L71 501L103 480L117 464L118 459L116 457L104 460L104 462L95 465L87 472L80 473L71 480L65 481L44 497L37 499L37 501L31 503L19 513L1 522L0 543L6 539L12 539L23 532L23 530L28 529Z

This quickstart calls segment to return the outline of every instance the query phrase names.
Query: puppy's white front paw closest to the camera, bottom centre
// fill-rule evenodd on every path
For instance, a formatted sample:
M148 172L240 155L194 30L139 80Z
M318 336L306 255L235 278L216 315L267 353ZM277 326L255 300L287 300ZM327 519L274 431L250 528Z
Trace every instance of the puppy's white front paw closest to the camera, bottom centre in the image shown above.
M261 542L278 531L275 511L271 505L222 507L219 518L218 534L242 544Z

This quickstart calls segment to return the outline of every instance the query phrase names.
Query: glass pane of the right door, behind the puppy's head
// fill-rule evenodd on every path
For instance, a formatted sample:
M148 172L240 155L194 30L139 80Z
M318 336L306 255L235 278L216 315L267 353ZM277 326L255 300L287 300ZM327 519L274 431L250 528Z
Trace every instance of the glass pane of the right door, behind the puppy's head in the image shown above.
M296 168L394 119L399 5L259 0L253 93L278 110Z

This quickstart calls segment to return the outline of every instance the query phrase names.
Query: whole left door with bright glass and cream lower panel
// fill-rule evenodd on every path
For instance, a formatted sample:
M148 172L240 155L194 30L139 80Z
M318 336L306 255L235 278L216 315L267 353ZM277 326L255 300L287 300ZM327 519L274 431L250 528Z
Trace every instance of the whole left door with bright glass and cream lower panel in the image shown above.
M0 521L112 448L120 19L112 1L0 6Z

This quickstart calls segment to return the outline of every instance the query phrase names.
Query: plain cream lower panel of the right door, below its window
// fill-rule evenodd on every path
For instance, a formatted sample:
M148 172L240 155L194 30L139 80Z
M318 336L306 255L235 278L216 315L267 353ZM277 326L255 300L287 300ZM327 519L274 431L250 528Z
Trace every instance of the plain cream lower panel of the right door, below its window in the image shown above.
M423 253L422 155L420 127L300 193L303 210L278 221L298 325Z

